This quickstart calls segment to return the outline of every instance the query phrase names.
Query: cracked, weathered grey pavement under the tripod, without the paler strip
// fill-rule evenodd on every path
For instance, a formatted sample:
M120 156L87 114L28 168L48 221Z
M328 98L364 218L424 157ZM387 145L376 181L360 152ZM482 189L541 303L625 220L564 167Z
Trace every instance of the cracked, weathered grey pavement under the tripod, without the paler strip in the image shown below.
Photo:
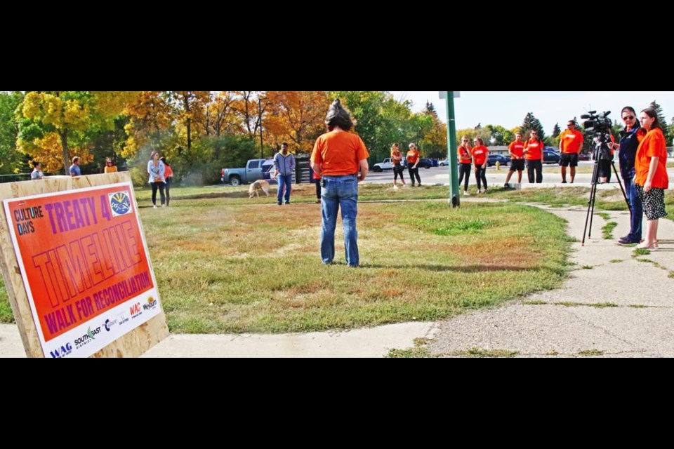
M629 213L608 212L619 224L610 241L601 238L606 221L595 217L594 238L583 248L586 209L548 210L566 219L569 235L579 241L570 279L558 290L439 323L431 353L477 348L522 357L674 356L674 222L660 220L658 250L633 257L634 248L616 243L628 233Z

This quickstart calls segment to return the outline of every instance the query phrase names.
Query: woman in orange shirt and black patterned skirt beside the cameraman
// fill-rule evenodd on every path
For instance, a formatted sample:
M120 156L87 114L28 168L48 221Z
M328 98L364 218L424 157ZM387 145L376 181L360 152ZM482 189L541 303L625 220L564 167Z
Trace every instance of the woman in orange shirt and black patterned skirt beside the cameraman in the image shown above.
M634 184L646 213L646 237L637 248L653 249L658 246L659 219L667 216L665 190L669 187L667 175L667 148L662 125L655 109L644 109L639 115L646 135L637 149L634 162Z

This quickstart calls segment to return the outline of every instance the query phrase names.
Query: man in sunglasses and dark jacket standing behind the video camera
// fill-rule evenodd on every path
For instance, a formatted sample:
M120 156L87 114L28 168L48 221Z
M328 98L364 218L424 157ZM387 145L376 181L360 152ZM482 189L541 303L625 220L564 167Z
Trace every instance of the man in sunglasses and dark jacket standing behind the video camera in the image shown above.
M625 189L627 191L627 198L630 202L631 218L630 218L630 233L622 237L619 245L629 245L630 243L641 243L641 223L644 215L644 210L641 207L641 200L637 189L634 185L634 161L637 156L637 148L639 147L639 140L637 139L637 132L641 129L637 121L637 113L633 107L623 107L621 112L625 128L620 132L620 145L618 159L620 161L620 175L625 181Z

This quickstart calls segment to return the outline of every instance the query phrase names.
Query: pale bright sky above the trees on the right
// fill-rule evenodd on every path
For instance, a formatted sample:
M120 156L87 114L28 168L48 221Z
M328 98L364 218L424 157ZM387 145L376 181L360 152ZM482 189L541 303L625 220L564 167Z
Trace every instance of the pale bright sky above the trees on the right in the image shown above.
M446 120L444 100L437 91L390 91L397 99L414 102L414 112L421 111L426 100L435 105L442 121ZM580 119L588 110L611 111L610 119L620 119L620 111L631 106L637 113L656 100L662 107L668 123L674 116L674 91L462 91L454 100L456 127L474 128L477 123L515 128L522 124L527 112L543 124L546 134L552 133L555 123L564 124L574 116Z

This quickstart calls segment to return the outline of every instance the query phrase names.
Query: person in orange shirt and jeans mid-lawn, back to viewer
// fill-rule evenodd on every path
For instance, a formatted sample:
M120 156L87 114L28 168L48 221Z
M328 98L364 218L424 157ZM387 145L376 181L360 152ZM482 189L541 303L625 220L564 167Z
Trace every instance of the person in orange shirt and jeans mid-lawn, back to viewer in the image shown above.
M335 228L341 207L346 263L358 267L358 183L367 176L370 154L362 139L349 133L353 121L339 100L330 105L325 124L329 132L316 140L311 154L311 168L323 177L321 259L324 264L331 264L335 257Z

